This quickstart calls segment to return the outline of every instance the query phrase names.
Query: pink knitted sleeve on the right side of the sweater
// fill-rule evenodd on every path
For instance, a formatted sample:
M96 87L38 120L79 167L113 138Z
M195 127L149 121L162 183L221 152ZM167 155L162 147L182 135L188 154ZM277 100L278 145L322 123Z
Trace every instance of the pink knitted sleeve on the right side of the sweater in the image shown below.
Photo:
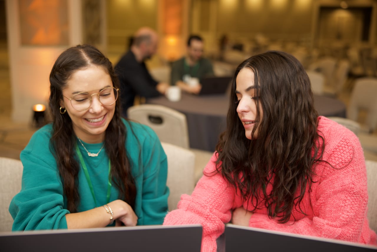
M366 168L363 150L356 136L341 139L325 150L315 168L310 201L314 217L285 224L267 215L254 213L249 226L303 235L360 243L375 243L375 233L368 227L366 206ZM326 157L325 157L326 155Z

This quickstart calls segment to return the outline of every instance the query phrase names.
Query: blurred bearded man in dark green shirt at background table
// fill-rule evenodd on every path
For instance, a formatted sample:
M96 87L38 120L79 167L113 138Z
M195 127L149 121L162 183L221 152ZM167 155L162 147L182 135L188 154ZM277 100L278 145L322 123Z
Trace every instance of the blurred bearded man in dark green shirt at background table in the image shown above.
M182 90L198 94L201 90L200 79L213 76L210 60L203 56L203 39L192 35L187 40L187 55L172 64L171 84Z

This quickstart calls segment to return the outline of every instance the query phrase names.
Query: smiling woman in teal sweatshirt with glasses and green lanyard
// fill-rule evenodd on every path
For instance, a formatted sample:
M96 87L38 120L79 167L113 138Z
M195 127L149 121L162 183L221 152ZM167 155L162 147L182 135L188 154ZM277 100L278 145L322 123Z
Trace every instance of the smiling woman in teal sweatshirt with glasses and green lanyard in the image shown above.
M162 224L167 158L154 131L121 118L109 59L89 45L71 47L50 84L53 122L21 152L12 230Z

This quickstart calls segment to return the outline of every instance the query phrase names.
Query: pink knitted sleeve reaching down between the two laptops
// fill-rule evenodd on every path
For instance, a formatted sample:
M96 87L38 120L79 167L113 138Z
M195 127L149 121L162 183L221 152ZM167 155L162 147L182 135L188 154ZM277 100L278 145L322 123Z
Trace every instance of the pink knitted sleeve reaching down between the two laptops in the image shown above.
M216 252L216 239L224 232L224 223L230 221L234 201L234 189L228 186L215 170L216 154L204 169L204 175L192 193L182 195L178 209L168 213L164 225L201 224L202 252Z

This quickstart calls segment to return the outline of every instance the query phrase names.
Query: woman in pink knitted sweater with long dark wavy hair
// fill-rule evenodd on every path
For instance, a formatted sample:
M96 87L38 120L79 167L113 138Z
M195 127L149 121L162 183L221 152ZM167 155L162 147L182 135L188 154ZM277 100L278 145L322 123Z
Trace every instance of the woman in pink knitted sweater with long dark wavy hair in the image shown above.
M216 251L229 221L376 244L359 139L317 116L296 58L270 51L242 62L229 104L227 129L204 176L164 224L201 224L202 251Z

